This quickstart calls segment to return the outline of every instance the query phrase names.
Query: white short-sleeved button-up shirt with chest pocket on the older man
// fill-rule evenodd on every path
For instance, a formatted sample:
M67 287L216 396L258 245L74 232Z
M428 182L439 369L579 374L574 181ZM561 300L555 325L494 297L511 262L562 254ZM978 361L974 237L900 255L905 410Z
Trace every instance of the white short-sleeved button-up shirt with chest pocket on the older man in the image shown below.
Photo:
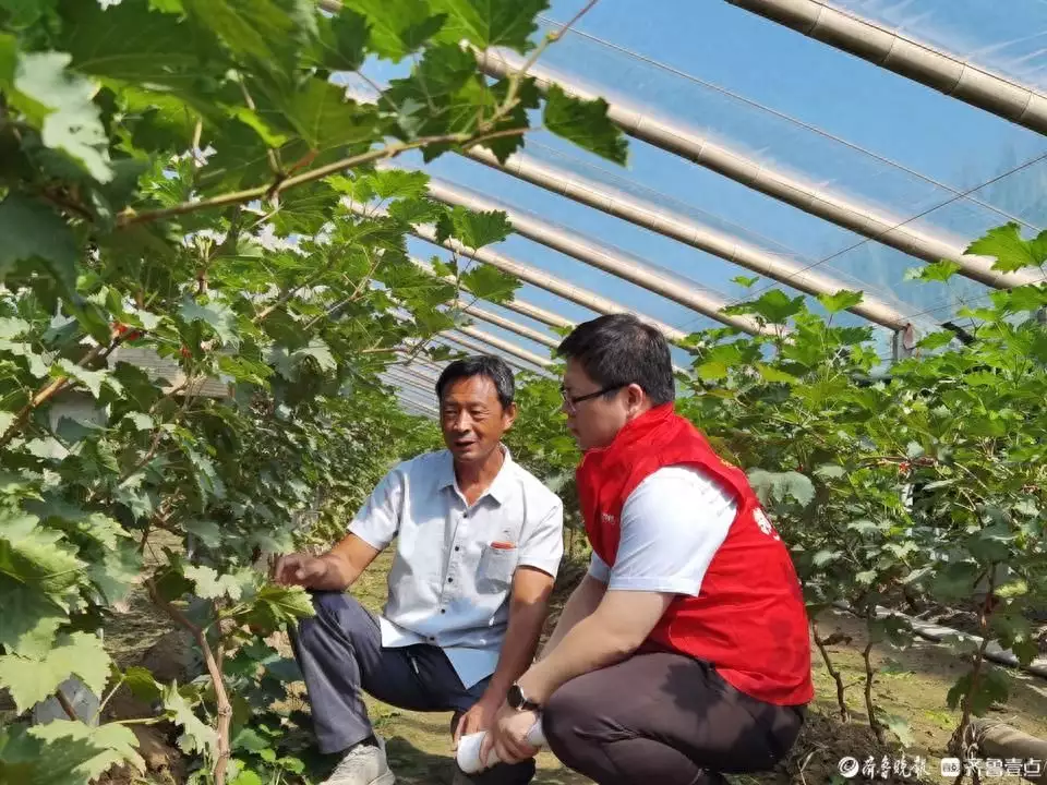
M563 503L502 449L502 469L471 507L440 450L394 468L349 526L380 550L396 539L382 645L438 645L467 688L497 667L516 568L555 578L564 553Z

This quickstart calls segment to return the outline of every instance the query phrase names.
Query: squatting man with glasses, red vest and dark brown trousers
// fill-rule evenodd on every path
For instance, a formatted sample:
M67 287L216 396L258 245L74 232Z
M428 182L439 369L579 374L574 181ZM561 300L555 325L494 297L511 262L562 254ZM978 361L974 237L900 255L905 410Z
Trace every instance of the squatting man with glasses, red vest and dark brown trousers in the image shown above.
M674 412L661 333L602 316L559 353L592 563L481 759L535 754L526 737L541 718L556 757L599 785L707 785L773 768L814 697L785 545L745 473Z

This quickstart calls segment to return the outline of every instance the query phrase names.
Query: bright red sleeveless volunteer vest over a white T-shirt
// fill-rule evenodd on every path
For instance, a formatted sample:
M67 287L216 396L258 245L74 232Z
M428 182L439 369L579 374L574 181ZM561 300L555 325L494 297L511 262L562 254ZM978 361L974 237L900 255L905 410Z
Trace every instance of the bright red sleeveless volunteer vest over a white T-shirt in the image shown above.
M622 507L645 478L673 464L699 468L738 506L698 596L677 596L646 649L707 661L758 700L798 705L814 698L803 591L785 545L745 473L723 461L672 403L629 422L605 448L586 452L576 474L593 551L614 565Z

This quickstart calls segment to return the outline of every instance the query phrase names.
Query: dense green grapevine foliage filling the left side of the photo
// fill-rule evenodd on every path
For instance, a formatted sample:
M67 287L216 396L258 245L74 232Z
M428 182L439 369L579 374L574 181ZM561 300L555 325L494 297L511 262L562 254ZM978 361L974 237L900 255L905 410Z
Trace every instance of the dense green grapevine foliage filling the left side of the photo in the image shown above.
M478 249L512 227L385 165L522 146L533 81L489 80L461 43L538 55L545 7L0 0L0 689L26 715L0 730L0 780L141 770L119 723L26 730L70 677L153 705L194 783L303 776L301 721L274 708L299 675L262 637L312 603L266 560L329 545L396 461L441 445L381 374L446 357L430 342L462 290L519 287L420 270L417 224ZM341 72L407 57L374 104L346 96ZM605 105L552 101L559 132L624 160ZM146 592L220 674L116 667L97 630Z

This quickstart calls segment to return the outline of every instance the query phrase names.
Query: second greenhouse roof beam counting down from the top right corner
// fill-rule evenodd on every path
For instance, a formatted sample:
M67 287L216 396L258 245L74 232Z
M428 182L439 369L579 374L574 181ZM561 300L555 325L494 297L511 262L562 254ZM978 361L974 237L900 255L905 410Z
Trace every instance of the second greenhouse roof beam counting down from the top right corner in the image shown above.
M484 73L496 77L516 73L525 63L520 56L504 50L478 51L477 59ZM568 81L562 74L554 75L541 65L531 67L529 73L542 90L547 90L551 85L556 84L566 94L577 98L591 100L599 97L592 90ZM1028 270L1015 273L995 270L992 269L994 259L989 257L967 254L963 247L948 239L911 227L904 219L900 220L843 195L820 189L791 173L766 166L739 152L718 145L684 125L654 119L641 110L613 101L609 101L607 118L634 138L677 155L870 240L924 262L935 263L942 258L955 262L960 266L961 275L986 286L1009 289L1035 283L1040 279Z

